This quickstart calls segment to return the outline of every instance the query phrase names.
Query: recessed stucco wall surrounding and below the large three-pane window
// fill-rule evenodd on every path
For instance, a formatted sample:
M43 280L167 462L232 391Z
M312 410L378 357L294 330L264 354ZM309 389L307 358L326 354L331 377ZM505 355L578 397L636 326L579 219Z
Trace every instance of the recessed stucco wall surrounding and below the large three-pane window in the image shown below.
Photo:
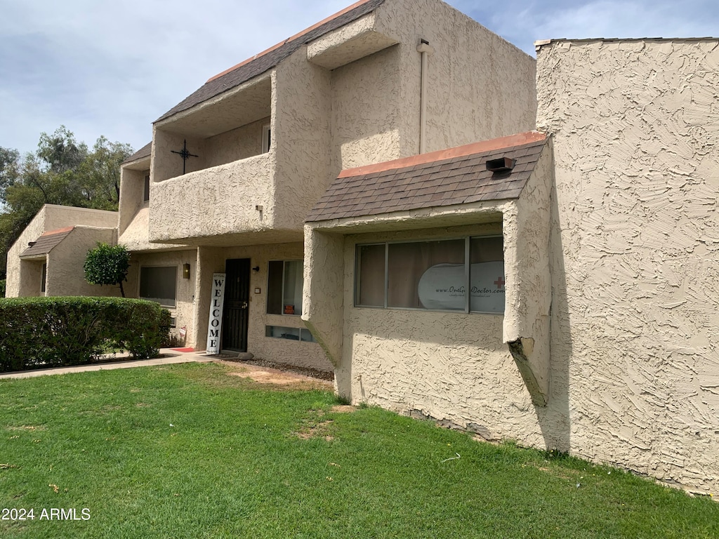
M417 410L487 438L541 445L530 394L503 342L503 315L354 307L357 243L501 231L500 224L485 224L347 236L338 390L347 395L349 389L353 402ZM505 236L505 243L511 240Z

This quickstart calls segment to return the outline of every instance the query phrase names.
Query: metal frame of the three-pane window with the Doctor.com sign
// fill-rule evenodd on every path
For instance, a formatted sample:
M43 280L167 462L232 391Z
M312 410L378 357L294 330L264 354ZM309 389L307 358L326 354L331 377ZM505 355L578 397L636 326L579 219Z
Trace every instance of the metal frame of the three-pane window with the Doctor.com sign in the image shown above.
M430 312L430 313L453 313L453 314L484 314L484 315L504 315L505 310L502 312L493 312L493 311L486 311L486 310L472 310L471 309L471 301L472 301L472 294L471 294L471 284L470 280L472 278L472 263L470 259L471 249L470 244L472 242L472 239L490 239L490 238L501 238L504 239L503 234L480 234L480 235L472 235L472 236L450 236L450 237L443 237L443 238L421 238L421 239L396 239L396 240L388 240L388 241L368 241L367 243L356 243L354 244L354 298L352 298L352 306L354 308L360 308L360 309L391 309L391 310L415 310L415 311L421 311L421 312ZM467 292L464 294L464 309L463 310L456 310L456 309L428 309L428 308L418 308L418 307L390 307L388 305L388 298L389 298L389 250L390 250L390 244L411 244L411 243L427 243L431 241L457 241L457 240L464 240L464 290L467 290ZM359 248L360 247L367 247L372 245L384 245L385 246L385 282L384 282L384 305L362 305L360 303L357 303L358 298L360 297L359 292L359 275L361 270L361 259L359 257ZM502 253L502 261L504 260L504 252ZM505 274L506 278L506 274ZM506 284L505 291L506 291ZM505 304L506 309L506 304Z

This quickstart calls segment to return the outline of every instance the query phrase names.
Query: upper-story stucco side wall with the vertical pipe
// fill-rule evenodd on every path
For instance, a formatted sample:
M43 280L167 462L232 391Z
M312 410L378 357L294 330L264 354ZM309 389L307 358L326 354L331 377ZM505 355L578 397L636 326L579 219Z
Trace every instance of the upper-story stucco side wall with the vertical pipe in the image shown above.
M535 61L442 1L377 9L377 31L399 45L396 102L402 157L419 151L421 55L429 41L426 152L534 129Z

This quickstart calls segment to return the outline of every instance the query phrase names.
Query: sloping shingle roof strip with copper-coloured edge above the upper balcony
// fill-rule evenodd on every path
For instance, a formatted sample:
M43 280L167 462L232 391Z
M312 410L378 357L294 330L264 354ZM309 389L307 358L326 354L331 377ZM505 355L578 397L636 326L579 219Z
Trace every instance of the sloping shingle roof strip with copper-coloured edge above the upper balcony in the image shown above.
M287 40L278 43L274 47L270 47L264 52L260 52L260 54L248 60L244 60L244 62L235 65L229 70L210 78L204 86L201 86L196 92L165 112L165 114L162 114L155 122L164 120L178 112L191 109L191 107L203 101L219 96L223 92L231 90L242 83L246 83L247 80L265 73L268 69L274 68L305 43L316 40L324 34L328 34L349 22L359 19L359 17L363 17L375 11L375 9L384 4L384 2L385 0L360 0L339 11L339 13L324 19L324 21L303 30L299 34L288 37Z

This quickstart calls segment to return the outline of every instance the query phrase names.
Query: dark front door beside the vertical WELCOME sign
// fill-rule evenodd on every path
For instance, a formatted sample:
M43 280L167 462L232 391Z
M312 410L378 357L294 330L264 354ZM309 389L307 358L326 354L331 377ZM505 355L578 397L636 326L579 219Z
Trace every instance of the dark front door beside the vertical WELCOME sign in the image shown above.
M225 262L225 298L222 313L223 350L247 351L249 313L249 258Z

